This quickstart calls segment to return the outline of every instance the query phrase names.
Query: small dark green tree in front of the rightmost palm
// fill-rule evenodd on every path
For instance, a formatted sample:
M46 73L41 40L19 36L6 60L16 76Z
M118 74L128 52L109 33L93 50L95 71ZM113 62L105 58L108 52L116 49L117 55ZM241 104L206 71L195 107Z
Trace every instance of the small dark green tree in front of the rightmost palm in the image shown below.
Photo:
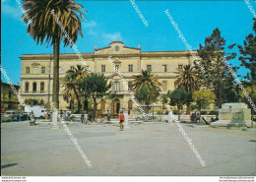
M178 108L178 120L180 120L180 109L183 105L190 100L190 91L184 91L183 89L175 89L172 92L168 92L168 97L170 99L170 105L177 106Z

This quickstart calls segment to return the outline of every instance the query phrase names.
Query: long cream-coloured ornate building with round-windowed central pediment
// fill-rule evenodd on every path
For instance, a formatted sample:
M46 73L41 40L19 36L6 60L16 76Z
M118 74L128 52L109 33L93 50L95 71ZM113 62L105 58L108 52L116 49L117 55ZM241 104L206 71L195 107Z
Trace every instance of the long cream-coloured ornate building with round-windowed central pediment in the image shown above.
M111 61L107 59L111 56L112 63L116 69L120 70L123 80L128 86L133 81L133 76L141 74L142 70L151 70L153 74L158 75L162 84L160 94L174 89L174 81L177 75L177 69L193 62L192 56L188 51L141 51L138 48L125 46L121 41L113 41L107 47L96 48L92 53L81 54L86 65L94 73L101 73L112 82L111 90L116 93L112 100L102 100L98 109L111 110L117 113L121 108L135 111L136 103L132 96L123 86L120 77L115 73ZM22 60L21 76L21 95L26 98L42 98L44 103L51 103L52 83L53 83L53 58L52 54L24 54ZM79 56L73 54L60 54L60 80L64 78L65 73L76 65L83 65ZM61 83L61 82L60 82ZM63 99L62 91L64 88L60 84L60 108L67 110L70 103ZM91 102L83 100L82 109L87 110Z

